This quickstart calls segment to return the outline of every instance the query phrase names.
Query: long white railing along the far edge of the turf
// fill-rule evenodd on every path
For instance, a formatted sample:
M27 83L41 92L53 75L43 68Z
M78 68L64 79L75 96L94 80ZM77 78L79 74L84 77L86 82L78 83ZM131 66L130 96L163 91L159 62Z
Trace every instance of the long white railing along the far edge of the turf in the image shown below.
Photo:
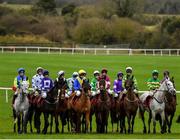
M1 53L37 53L37 54L93 54L93 55L153 55L179 56L180 49L122 49L122 48L54 48L54 47L5 47Z

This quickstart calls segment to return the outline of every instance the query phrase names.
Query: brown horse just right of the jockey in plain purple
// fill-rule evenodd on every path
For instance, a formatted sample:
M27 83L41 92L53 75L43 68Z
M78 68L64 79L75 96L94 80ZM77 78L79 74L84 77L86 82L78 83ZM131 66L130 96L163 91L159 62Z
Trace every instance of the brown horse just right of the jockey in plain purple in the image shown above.
M133 133L134 120L139 106L139 99L133 92L133 76L132 78L125 81L125 88L127 90L127 93L126 96L123 98L124 111L128 120L128 133Z

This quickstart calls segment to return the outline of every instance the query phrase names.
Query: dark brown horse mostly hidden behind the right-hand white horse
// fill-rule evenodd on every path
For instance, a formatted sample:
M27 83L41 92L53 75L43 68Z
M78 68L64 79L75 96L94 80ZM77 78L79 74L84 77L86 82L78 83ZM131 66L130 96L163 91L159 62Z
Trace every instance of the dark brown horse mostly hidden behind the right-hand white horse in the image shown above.
M171 78L171 82L174 84L174 78ZM165 118L166 118L166 124L168 125L168 133L171 133L171 125L172 125L172 120L174 117L176 111L176 97L175 95L167 92L165 94ZM169 119L170 117L170 119ZM166 131L166 128L165 128Z

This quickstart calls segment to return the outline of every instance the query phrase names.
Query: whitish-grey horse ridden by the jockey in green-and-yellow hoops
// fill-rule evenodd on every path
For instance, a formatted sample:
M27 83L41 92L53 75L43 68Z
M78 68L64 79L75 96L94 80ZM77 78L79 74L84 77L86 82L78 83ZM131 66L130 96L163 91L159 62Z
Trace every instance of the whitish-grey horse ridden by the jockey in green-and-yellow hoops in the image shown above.
M146 125L144 118L145 110L149 112L148 133L150 133L150 123L152 118L154 127L153 133L156 133L156 120L158 118L160 120L161 133L163 134L165 132L165 93L169 92L171 94L174 94L175 91L176 90L173 86L173 83L168 79L164 79L159 89L157 89L155 92L146 92L140 96L142 104L139 107L139 113L143 121L144 133L146 133ZM144 105L144 103L146 103L146 106Z

